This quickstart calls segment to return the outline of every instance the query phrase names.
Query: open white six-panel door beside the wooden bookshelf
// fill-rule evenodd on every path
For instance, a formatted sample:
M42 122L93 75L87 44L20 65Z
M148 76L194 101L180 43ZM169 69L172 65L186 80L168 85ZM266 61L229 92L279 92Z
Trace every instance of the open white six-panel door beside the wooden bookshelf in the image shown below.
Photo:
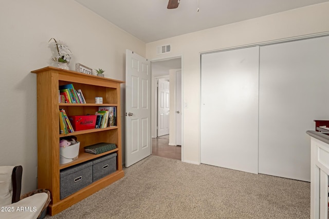
M151 154L150 62L126 50L125 65L125 166Z

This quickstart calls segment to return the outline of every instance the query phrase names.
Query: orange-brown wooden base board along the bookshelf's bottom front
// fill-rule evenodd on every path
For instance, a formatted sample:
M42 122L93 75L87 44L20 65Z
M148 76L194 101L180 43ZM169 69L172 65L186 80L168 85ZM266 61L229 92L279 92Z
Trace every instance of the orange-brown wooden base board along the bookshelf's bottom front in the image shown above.
M123 176L124 176L124 171L117 170L116 172L101 178L100 180L90 184L89 186L79 190L78 192L71 194L70 196L64 198L63 200L60 200L56 203L53 203L52 201L48 206L48 214L53 216L69 208L70 206L80 202L84 198L94 194L100 189L120 180L120 178L122 178ZM57 196L59 197L59 194Z

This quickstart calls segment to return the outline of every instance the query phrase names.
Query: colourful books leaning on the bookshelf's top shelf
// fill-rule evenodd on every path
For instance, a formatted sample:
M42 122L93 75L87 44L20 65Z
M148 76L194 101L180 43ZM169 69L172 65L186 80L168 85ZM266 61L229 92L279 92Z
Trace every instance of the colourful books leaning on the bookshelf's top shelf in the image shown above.
M59 86L59 94L60 100L63 99L64 96L65 103L86 104L81 89L76 90L72 84Z

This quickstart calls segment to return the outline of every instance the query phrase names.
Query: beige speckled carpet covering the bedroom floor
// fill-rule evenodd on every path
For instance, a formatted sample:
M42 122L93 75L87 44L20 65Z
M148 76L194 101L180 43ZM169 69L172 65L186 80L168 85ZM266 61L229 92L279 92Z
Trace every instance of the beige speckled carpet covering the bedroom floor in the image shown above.
M310 184L149 156L46 218L309 218Z

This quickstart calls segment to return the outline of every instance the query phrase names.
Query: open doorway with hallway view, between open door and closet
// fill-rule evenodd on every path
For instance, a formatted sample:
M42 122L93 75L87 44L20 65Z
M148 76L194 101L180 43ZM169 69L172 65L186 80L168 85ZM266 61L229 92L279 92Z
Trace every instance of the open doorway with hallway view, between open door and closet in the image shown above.
M181 160L181 57L151 61L152 153Z

